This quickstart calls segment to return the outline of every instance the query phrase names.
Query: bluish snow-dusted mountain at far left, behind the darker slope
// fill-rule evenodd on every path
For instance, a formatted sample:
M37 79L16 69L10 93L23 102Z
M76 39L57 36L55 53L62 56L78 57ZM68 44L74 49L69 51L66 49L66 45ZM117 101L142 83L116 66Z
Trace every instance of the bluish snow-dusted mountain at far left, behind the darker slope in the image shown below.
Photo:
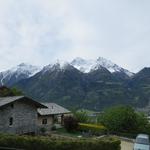
M41 70L41 67L21 63L4 72L0 72L0 85L12 85L22 79L29 78Z

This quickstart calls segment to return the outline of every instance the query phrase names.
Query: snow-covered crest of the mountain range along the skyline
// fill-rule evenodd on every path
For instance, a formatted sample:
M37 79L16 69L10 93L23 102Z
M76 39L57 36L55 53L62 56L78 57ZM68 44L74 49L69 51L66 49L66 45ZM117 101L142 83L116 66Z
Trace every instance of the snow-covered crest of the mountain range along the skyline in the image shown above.
M96 60L83 59L83 58L77 57L70 62L63 61L63 60L57 60L57 61L50 63L49 65L46 65L44 67L33 66L33 65L30 65L27 63L21 63L21 64L17 65L16 67L13 67L6 71L0 72L0 74L3 74L3 76L5 78L5 76L7 76L7 74L16 73L16 72L19 74L19 72L25 73L25 71L26 71L27 76L31 77L31 76L35 75L36 73L42 71L43 69L49 70L50 68L56 67L56 66L59 67L59 69L65 69L67 66L73 66L83 73L89 73L90 71L97 70L100 67L103 67L103 68L106 68L107 70L109 70L111 73L124 72L125 74L127 74L130 77L134 74L134 73L128 71L127 69L124 69L103 57L99 57ZM0 79L1 78L2 77L0 77Z

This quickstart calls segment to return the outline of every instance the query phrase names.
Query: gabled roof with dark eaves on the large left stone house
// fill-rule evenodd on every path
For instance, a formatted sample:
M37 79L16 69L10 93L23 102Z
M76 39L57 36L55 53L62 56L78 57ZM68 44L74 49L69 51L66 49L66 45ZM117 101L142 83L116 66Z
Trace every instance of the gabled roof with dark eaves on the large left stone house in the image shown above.
M29 102L33 103L37 108L47 108L45 105L43 105L43 104L41 104L41 103L31 99L31 98L25 97L25 96L0 97L0 108L5 106L5 105L8 105L12 102L22 101L22 100L29 101Z

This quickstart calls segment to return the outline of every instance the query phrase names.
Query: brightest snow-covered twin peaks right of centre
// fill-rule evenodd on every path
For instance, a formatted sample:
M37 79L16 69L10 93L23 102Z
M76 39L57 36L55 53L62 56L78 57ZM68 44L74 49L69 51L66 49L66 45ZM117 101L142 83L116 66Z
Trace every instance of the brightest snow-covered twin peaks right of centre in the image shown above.
M100 67L103 67L109 70L111 73L124 72L128 76L133 75L133 73L131 73L130 71L121 68L120 66L103 57L99 57L96 60L85 60L78 57L71 62L71 65L84 73L89 73L90 71L97 70Z

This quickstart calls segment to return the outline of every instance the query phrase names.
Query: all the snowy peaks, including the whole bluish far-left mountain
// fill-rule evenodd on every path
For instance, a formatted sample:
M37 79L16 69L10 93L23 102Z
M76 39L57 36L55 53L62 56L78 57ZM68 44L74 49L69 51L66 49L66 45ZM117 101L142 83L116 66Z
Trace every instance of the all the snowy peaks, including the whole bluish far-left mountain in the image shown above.
M18 81L30 78L40 71L42 72L42 74L47 74L48 72L52 71L58 72L77 69L83 73L90 73L94 70L104 68L112 74L121 73L121 75L125 75L127 77L131 77L133 75L133 73L131 73L130 71L123 69L122 67L102 57L99 57L96 60L86 60L78 57L71 62L57 60L45 66L43 69L41 67L33 66L30 64L19 64L14 68L11 68L4 72L0 72L0 85L12 86Z

